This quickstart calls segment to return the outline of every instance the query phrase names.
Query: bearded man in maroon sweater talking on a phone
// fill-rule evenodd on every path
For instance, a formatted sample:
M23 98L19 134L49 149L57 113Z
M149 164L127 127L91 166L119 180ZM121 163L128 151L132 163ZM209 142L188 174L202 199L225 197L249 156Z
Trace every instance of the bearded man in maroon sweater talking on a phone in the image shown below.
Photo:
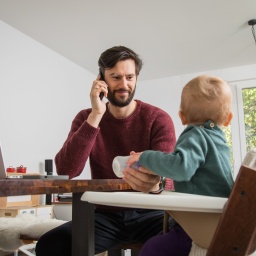
M134 100L142 61L124 46L103 52L100 74L93 82L92 108L80 111L73 120L63 147L55 158L58 174L80 175L88 158L93 179L115 179L112 161L146 149L173 151L176 138L170 116L149 104ZM102 100L108 99L108 103ZM135 190L157 193L160 177L126 170L123 178ZM99 206L95 210L95 254L119 243L145 242L162 230L163 212ZM72 224L68 222L41 237L37 256L70 256Z

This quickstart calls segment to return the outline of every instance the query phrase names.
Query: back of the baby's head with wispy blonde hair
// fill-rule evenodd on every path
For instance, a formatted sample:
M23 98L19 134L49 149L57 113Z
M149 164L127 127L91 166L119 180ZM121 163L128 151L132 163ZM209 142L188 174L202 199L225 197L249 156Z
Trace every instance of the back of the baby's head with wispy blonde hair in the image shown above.
M189 81L181 94L180 112L188 124L212 120L222 126L232 112L232 92L222 79L209 75Z

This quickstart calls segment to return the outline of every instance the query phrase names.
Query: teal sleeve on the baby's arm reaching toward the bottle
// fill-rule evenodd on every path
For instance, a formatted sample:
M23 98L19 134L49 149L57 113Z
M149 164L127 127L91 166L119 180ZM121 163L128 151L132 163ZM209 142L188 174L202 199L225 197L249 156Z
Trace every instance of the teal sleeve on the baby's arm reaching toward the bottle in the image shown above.
M172 153L147 150L140 156L140 164L154 173L176 181L189 181L204 163L207 144L194 129L183 133Z

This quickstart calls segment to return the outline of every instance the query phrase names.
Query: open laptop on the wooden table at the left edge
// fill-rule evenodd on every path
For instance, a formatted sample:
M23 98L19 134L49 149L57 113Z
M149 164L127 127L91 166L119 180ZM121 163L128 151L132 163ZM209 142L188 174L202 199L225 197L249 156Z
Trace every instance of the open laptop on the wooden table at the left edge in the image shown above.
M7 174L4 166L4 157L2 146L0 143L0 179L56 179L56 180L68 180L68 175L42 175L42 174L26 174L21 175L19 173Z

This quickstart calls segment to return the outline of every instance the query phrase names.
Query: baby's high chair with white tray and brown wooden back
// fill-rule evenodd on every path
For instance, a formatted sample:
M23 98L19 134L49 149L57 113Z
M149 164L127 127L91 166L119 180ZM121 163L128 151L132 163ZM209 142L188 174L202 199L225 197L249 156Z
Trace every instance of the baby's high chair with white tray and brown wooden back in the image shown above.
M244 256L256 249L255 188L256 149L246 155L229 198L167 191L159 195L87 191L81 200L91 204L165 210L183 227L198 251L207 249L203 250L204 255Z

